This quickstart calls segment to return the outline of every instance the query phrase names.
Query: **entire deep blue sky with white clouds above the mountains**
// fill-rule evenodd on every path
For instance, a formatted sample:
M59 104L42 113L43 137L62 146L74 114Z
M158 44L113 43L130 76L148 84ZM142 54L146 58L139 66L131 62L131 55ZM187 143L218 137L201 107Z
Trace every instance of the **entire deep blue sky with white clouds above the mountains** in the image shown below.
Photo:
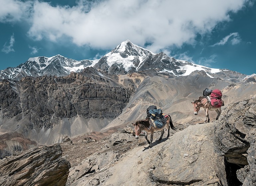
M36 56L98 59L130 40L250 75L256 73L255 1L0 0L0 70Z

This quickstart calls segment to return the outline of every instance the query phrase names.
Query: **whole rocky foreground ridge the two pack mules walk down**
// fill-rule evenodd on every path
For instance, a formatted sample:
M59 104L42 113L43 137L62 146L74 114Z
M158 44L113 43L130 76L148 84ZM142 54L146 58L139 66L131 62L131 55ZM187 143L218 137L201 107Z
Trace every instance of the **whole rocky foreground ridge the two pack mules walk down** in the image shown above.
M135 140L132 125L98 141L76 138L73 142L61 143L62 157L70 162L71 168L58 185L255 185L255 118L256 99L253 98L224 106L218 121L207 124L184 122L182 125L174 122L178 129L171 130L169 139L165 134L162 141L157 140L161 133L155 133L152 148L143 136ZM41 151L35 148L0 161L0 183L11 185L18 177L23 184L32 180L39 185L48 183L48 179L44 182L37 180L46 172L48 177L54 176L61 166L49 171L51 164L45 161L47 166L44 170L39 169L37 174L31 170L41 162L40 158L35 158L33 166L8 166L18 164L24 157L31 159L32 152L36 152L36 157L43 157L47 148L49 152L53 149L52 146L43 147ZM59 150L59 145L54 149ZM48 157L55 159L53 153ZM56 161L64 162L62 158ZM43 166L39 164L39 167ZM65 171L63 168L60 172ZM33 179L21 177L22 172L28 172ZM61 176L56 180L59 178Z

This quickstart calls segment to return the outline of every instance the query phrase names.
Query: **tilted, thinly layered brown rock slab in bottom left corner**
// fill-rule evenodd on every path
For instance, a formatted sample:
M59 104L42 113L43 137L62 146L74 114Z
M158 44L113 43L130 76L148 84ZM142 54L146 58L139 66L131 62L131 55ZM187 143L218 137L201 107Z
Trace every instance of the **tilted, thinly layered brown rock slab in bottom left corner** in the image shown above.
M60 145L31 148L0 161L2 186L64 186L70 164L62 158Z

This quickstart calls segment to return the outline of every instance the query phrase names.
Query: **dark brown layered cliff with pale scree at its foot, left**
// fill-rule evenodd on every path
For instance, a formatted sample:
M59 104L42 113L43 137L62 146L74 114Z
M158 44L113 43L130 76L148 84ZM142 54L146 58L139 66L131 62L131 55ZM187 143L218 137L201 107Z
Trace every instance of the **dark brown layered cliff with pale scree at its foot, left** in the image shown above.
M15 131L38 143L53 144L62 140L60 135L102 129L121 114L135 88L133 82L123 86L91 67L65 77L4 80L0 91L1 133Z

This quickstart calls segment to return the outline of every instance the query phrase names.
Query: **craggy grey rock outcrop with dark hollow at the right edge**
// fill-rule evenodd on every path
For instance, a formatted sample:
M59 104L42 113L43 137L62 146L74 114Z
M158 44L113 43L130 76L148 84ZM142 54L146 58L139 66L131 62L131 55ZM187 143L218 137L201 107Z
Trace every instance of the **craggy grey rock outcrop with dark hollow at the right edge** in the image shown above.
M224 186L256 184L256 99L227 105L215 125L215 149L224 165L218 176ZM237 171L236 171L237 170Z

